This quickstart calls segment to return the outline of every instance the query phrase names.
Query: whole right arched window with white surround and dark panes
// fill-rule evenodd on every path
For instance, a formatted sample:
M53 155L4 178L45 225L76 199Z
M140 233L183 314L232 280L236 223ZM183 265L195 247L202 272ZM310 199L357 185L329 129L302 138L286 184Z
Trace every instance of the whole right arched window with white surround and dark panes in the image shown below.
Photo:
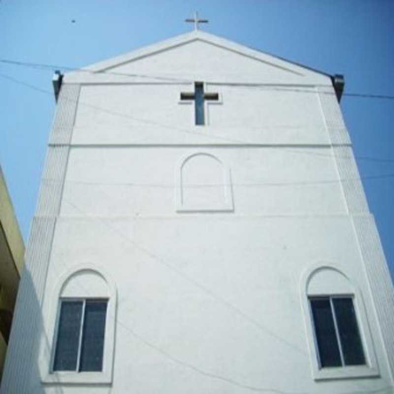
M304 285L315 379L376 375L376 358L357 288L332 266L313 270Z

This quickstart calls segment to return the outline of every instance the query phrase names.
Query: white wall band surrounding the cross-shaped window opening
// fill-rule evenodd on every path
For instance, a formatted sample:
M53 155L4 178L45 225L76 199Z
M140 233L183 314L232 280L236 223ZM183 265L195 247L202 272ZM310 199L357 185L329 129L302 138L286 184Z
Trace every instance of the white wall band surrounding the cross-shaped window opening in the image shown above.
M193 125L194 105L178 103L192 85L82 86L72 142L328 144L317 92L275 89L209 85L223 102L206 106L209 127L201 127Z

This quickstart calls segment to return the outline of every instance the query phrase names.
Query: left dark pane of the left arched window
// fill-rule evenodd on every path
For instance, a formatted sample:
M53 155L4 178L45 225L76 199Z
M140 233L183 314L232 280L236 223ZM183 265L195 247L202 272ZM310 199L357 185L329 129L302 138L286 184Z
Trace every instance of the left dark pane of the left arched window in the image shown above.
M54 371L75 371L77 367L82 301L62 301Z

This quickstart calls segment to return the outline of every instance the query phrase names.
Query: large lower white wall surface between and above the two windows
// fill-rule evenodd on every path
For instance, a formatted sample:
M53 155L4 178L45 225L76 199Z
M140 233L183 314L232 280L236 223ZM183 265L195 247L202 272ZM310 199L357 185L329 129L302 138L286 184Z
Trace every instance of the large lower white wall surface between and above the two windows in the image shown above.
M358 384L316 386L299 298L303 270L318 261L335 262L367 287L346 216L63 217L53 251L48 283L59 264L99 261L118 285L115 393L239 393L190 365L285 392L340 393ZM383 360L367 296L365 308L374 340L367 350ZM379 368L389 379L387 365Z

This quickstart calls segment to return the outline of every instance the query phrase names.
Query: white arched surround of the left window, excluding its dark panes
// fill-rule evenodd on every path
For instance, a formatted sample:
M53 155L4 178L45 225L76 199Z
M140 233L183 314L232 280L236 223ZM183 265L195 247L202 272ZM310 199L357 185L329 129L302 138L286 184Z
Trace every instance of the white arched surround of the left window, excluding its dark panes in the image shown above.
M47 338L41 340L39 369L44 383L108 384L112 382L116 323L116 286L109 274L93 264L81 264L61 276L44 308L49 309L45 327ZM62 300L107 299L102 370L98 372L54 371L53 361L59 311Z

